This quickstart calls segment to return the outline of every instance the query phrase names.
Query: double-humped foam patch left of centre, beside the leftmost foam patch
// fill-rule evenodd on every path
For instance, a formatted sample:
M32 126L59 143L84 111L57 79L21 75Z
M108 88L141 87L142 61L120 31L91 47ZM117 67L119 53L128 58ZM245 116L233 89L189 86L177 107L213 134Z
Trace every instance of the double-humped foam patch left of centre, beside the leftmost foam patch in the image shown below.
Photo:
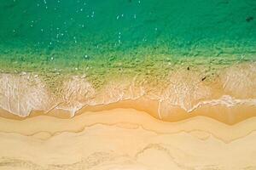
M72 77L64 82L60 105L55 108L70 111L74 116L86 106L108 105L125 99L138 99L143 89L129 80L108 82L101 90L92 87L85 77Z

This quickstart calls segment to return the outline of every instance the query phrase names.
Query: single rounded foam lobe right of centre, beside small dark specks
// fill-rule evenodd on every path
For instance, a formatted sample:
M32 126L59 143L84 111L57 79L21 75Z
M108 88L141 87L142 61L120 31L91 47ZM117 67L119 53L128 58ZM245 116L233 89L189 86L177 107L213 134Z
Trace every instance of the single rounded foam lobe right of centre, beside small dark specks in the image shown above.
M201 81L201 77L196 71L173 73L170 85L160 96L160 105L178 105L183 110L190 111L199 101L211 99L212 89Z

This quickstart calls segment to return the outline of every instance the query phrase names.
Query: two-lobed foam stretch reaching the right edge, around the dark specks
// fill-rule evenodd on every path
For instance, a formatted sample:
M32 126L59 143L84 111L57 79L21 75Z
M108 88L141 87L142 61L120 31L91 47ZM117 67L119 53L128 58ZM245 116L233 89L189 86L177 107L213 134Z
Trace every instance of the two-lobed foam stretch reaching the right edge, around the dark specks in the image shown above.
M204 105L256 105L255 68L255 65L235 65L222 71L211 83L204 82L206 78L198 71L176 71L158 97L158 116L168 117L177 106L189 113Z

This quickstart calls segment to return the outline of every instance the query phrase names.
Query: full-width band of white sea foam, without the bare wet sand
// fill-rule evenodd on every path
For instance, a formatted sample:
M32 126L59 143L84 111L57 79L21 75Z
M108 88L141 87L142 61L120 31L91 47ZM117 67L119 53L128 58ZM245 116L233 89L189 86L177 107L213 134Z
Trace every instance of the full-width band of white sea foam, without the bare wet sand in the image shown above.
M238 92L242 94L242 86L246 91L251 92L256 83L253 74L250 71L246 72L245 75L249 75L249 78L236 74L240 75L241 80L239 80L230 75L229 70L224 71L220 77L222 84L219 86L222 87L219 89L222 94L218 97L212 97L216 89L206 85L201 81L201 75L192 71L185 73L177 71L171 75L170 83L166 88L153 90L148 89L143 82L137 81L137 77L132 80L108 82L102 90L93 88L83 76L70 77L60 87L61 96L55 96L50 92L38 75L2 74L0 75L0 107L18 116L29 116L31 111L49 112L55 109L69 111L74 116L77 111L86 106L109 105L124 100L145 98L159 102L158 116L163 118L166 114L172 114L170 108L172 109L173 106L178 106L188 113L204 105L252 106L256 105L254 94L241 95L241 97L237 94ZM228 80L232 80L233 83ZM247 83L240 82L245 80ZM233 88L232 84L237 86L238 90ZM232 93L234 96L231 95ZM145 105L145 107L148 106Z

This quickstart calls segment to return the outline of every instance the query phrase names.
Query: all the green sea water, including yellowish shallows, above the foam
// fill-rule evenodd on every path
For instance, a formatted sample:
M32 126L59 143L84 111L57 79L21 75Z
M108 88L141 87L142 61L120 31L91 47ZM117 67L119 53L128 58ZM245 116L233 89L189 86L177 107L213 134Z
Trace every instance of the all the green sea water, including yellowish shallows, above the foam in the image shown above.
M157 72L170 63L229 65L255 54L255 0L0 3L3 72Z

